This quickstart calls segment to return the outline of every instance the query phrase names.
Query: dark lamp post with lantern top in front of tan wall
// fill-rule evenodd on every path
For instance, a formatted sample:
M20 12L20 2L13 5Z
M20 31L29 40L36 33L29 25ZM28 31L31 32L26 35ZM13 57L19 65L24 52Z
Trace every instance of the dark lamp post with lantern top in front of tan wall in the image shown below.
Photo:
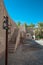
M8 65L8 17L4 16L3 29L6 30L5 65Z

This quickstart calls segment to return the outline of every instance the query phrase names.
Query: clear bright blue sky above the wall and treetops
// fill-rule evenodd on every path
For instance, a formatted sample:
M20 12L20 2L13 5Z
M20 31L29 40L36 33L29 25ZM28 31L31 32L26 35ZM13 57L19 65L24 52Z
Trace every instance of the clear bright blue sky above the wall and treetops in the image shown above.
M4 0L9 16L16 23L43 21L43 0Z

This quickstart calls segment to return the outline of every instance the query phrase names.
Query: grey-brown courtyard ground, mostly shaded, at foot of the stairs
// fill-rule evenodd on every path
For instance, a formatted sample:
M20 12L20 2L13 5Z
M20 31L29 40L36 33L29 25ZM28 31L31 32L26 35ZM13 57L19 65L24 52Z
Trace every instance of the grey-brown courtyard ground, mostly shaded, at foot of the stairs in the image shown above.
M43 45L39 41L29 44L20 44L13 54L8 55L8 65L43 65ZM3 54L4 55L4 54ZM4 56L0 58L0 65L4 64Z

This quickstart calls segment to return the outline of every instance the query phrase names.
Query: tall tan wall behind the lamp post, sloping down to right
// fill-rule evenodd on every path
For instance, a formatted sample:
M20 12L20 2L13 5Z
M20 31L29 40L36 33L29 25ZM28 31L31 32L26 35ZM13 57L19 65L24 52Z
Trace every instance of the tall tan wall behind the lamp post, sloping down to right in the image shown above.
M5 49L5 30L3 29L3 16L8 16L8 20L9 20L9 24L11 24L11 27L10 27L10 30L11 30L11 33L9 34L9 38L12 37L13 33L14 33L14 30L15 28L17 28L16 24L10 19L6 9L5 9L5 6L4 6L4 3L3 3L3 0L0 0L0 53L2 51L4 51Z

